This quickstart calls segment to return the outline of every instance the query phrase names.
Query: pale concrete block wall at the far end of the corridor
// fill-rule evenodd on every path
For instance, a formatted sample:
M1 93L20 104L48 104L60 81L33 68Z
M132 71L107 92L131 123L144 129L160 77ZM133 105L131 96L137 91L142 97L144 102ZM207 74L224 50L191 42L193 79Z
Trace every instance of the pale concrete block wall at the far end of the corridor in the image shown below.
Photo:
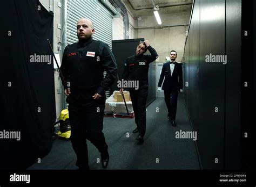
M159 54L156 62L165 62L169 52L174 49L178 53L177 61L183 57L186 31L190 21L190 12L160 15L162 25L157 24L154 16L138 18L137 37L149 40Z

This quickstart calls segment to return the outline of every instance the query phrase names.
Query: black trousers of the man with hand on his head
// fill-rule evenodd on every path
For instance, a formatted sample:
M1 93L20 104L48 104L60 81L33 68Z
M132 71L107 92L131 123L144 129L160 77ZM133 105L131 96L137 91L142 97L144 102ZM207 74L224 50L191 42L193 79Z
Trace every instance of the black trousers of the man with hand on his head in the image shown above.
M149 86L143 85L138 90L130 89L132 107L135 115L135 123L139 130L139 135L144 136L146 132L146 101Z

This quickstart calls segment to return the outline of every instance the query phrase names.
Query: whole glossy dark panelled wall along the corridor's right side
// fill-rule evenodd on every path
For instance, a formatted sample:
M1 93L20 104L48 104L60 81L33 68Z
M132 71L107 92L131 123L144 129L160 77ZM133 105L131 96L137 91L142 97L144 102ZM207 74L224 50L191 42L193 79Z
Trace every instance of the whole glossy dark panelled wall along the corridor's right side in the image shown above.
M240 167L240 51L241 0L194 1L184 82L203 169ZM226 55L226 64L206 62L206 55Z

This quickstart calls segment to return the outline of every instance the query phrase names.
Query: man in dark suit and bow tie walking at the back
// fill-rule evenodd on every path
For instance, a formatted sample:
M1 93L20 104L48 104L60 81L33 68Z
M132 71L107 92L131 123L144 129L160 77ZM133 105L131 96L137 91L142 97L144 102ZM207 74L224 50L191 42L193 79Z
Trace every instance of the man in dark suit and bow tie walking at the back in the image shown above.
M163 83L164 77L164 100L168 109L167 118L171 120L172 126L176 127L176 111L177 111L177 99L178 91L183 92L183 74L181 63L177 63L175 59L177 58L177 52L170 52L170 62L164 63L163 69L161 70L160 79L158 82L158 91L161 90L161 85Z

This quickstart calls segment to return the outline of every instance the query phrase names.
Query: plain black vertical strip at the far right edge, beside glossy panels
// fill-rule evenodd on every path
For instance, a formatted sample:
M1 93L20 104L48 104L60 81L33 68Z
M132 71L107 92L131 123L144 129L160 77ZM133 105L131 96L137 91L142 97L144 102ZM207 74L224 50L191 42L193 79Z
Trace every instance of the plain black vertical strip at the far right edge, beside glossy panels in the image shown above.
M241 134L242 134L242 169L255 168L255 116L253 116L253 74L255 61L253 61L253 38L255 38L255 1L242 1L242 44L241 44ZM254 10L253 10L254 9ZM247 34L245 33L247 31ZM254 67L254 68L253 68ZM247 83L247 85L245 85ZM245 133L248 137L245 138Z

